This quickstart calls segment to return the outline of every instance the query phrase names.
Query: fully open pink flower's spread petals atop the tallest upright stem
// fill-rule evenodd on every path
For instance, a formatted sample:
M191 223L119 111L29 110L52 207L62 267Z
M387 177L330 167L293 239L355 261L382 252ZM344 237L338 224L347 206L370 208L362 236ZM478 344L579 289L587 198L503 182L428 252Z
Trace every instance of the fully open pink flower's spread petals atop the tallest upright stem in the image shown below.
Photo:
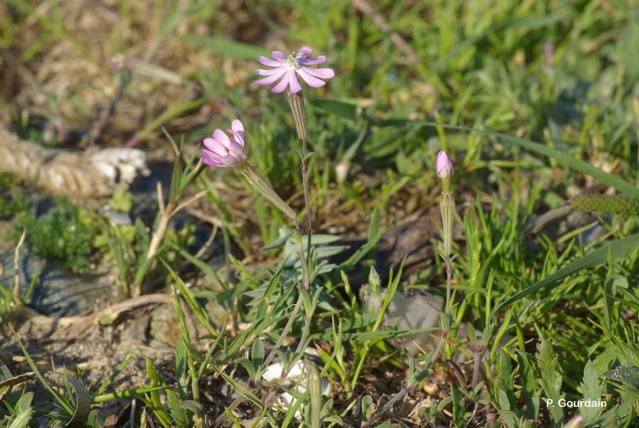
M299 81L297 80L297 76L295 73L299 74L302 79L309 86L313 88L319 88L320 86L324 86L326 84L325 81L320 79L330 79L335 76L335 73L330 68L309 68L305 67L307 65L316 65L321 64L326 61L326 57L323 55L313 56L309 58L311 55L310 47L302 47L297 52L293 52L288 56L284 56L280 51L271 52L273 55L273 59L268 59L265 56L258 56L258 61L268 67L275 67L270 70L261 70L258 68L255 72L259 75L265 75L264 79L260 79L256 81L257 84L272 84L277 79L282 77L282 80L275 85L272 89L275 93L280 93L286 89L286 86L289 86L291 93L298 93L302 90L302 86L300 86ZM318 79L318 77L320 79Z

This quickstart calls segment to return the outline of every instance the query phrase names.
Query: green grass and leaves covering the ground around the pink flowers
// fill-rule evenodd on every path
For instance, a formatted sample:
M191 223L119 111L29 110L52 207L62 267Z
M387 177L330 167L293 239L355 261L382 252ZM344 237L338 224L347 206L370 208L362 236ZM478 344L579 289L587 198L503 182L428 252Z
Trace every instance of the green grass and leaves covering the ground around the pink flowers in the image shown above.
M167 374L145 356L147 379L137 388L122 391L112 386L132 356L113 361L111 379L97 389L89 388L93 413L77 426L101 426L100 404L121 397L135 397L141 406L135 424L141 426L150 420L164 427L208 426L222 420L240 426L249 419L274 427L300 422L317 427L320 421L327 426L390 426L407 423L408 418L414 426L490 426L487 420L492 420L495 426L532 427L564 426L578 414L589 427L633 426L639 412L635 213L626 212L621 218L606 216L604 210L590 219L606 232L590 243L583 241L579 233L583 230L578 229L586 223L573 225L578 216L574 212L564 228L550 225L531 232L528 225L592 184L604 184L624 198L638 196L639 4L369 2L415 52L417 60L411 61L354 3L258 0L244 10L264 31L280 31L276 49L288 52L311 46L317 54L325 54L327 67L335 70L325 88L304 89L308 142L317 154L309 161L311 212L316 217L314 232L323 234L314 239L316 243L323 239L326 245L312 253L310 289L300 287L298 241L286 216L238 171L197 169L197 157L181 152L171 196L150 230L141 222L128 229L104 226L79 238L65 235L64 251L50 251L69 267L81 269L87 266L82 260L89 253L73 242L95 244L97 238L93 257L110 260L122 297L136 296L143 284L167 278L182 332L174 349L173 372ZM59 6L51 20L42 20L26 1L13 0L11 5L15 15L1 33L3 45L19 45L14 34L29 15L42 22L33 45L20 52L25 67L35 68L55 40L66 40L83 58L95 59L88 48L91 40L66 28ZM126 2L118 5L118 13L121 29L139 22ZM160 130L166 127L173 138L183 141L179 145L183 149L215 128L227 129L241 112L250 163L300 213L304 225L300 157L291 149L300 142L286 95L250 83L257 67L254 56L269 49L240 33L235 40L229 38L228 13L211 4L164 2L150 13L150 20L157 23L150 40L134 42L113 30L106 42L113 51L137 55L153 41L163 46L173 42L189 52L203 52L203 58L216 65L234 61L232 72L190 64L183 77L197 82L201 91L192 97L181 94L173 104L159 107L153 103L160 101L148 100L144 121L127 135L133 133L154 147L164 138ZM204 33L198 26L211 31ZM174 54L166 49L164 55ZM180 61L188 59L175 59L173 64ZM240 84L229 84L231 77ZM158 94L162 85L169 84L146 79ZM123 85L119 102L135 104L141 84L134 75ZM49 115L57 115L65 100L45 95ZM186 130L180 127L180 120L197 116L201 106L220 98L230 104L220 104L213 118L204 123L194 119ZM66 101L75 111L82 111L82 102L88 103L77 94ZM74 118L77 123L88 120L83 114ZM18 127L22 134L33 132L25 126ZM418 195L422 208L437 209L439 150L447 150L455 160L454 195L463 209L456 225L463 239L453 245L451 311L432 331L419 332L439 338L443 326L447 338L438 341L437 349L409 356L397 346L408 333L394 328L387 317L390 299L414 289L444 296L445 263L435 256L431 266L411 276L401 276L402 267L396 266L390 278L381 280L373 267L374 247L385 227L404 217L401 209L397 214L399 202L405 207L411 195ZM350 165L343 182L338 182L335 171L340 164ZM175 232L166 224L174 214L171 209L197 191L203 192L202 200L219 219L226 242L235 241L247 255L267 257L270 267L258 265L256 270L229 254L227 265L234 273L229 276L187 251L192 232ZM246 205L240 203L238 208L224 202L229 200L227 194L239 192L255 201L249 220L234 214ZM24 210L21 201L12 195L0 204L0 213L12 216ZM112 203L118 201L124 203L123 210L130 208L123 195ZM330 209L325 210L327 205ZM59 205L59 210L75 212L72 218L79 215L65 207ZM330 247L328 231L318 230L334 218L345 230L366 230L368 241L350 260L322 264L323 257L343 250L337 244ZM46 242L54 236L35 218L23 223L35 248L45 248L38 246L38 237ZM262 244L268 246L260 250L249 230L258 230ZM50 242L60 241L56 239ZM440 245L439 240L432 243ZM194 271L210 277L217 287L187 284L185 276ZM359 289L357 278L367 278ZM386 297L381 296L382 289L387 290ZM2 290L3 321L4 317L13 321L20 296ZM365 305L366 295L378 304ZM212 321L207 301L226 310L226 325ZM185 310L204 326L203 337L192 335ZM293 340L285 340L290 337ZM306 347L314 348L319 357L307 358ZM479 362L460 369L448 362L456 353ZM282 361L290 368L298 360L306 367L307 390L263 379L269 363ZM474 370L481 371L477 384L470 380ZM12 377L3 370L0 393L6 388L3 381ZM319 378L330 384L329 397L321 396ZM432 379L437 393L426 400L424 387L427 390ZM381 390L372 386L375 381L387 385L388 395L381 397ZM236 393L233 400L223 404L210 400L206 388L212 388L212 382L226 383ZM65 393L55 393L61 411L41 408L27 388L14 389L7 404L0 406L4 417L0 427L13 426L11 422L27 426L34 417L31 409L52 423L71 420L78 406L71 391L78 390L68 381L64 384ZM284 391L294 397L291 406L276 399ZM401 400L403 394L417 403L415 412L397 418L401 406L396 403L388 409L392 413L385 413L385 403L392 397ZM548 406L546 398L555 403L604 400L606 407L560 408Z

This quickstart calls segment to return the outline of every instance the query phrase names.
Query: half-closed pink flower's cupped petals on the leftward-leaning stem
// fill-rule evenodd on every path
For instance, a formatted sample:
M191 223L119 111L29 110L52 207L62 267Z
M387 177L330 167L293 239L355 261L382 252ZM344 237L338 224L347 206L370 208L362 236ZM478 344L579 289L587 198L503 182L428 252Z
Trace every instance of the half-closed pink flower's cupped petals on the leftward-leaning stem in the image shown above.
M213 138L204 138L202 162L220 168L235 168L246 161L242 122L238 119L234 120L231 122L231 129L227 132L231 133L233 139L221 129L213 131Z

